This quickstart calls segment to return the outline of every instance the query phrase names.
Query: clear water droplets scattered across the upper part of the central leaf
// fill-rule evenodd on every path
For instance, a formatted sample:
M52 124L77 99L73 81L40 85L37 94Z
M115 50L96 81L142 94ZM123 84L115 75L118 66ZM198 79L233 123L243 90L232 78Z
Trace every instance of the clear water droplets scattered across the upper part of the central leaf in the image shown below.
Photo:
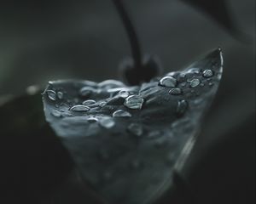
M191 68L189 69L189 71L179 73L179 77L184 78L187 74L199 73L199 69ZM183 89L177 87L178 82L175 78L175 74L177 74L177 72L169 73L166 77L160 78L159 86L170 88L168 93L171 95L180 95L183 94ZM209 81L213 75L213 71L209 69L202 72L202 77L207 78L207 81ZM190 88L196 88L199 85L204 86L204 84L201 83L200 79L194 77L188 79L187 82L189 82ZM209 82L209 85L211 86L210 83L211 82ZM184 87L185 85L186 82L182 82L180 83L179 87ZM83 113L88 112L95 107L102 108L106 105L114 105L115 102L117 102L117 104L119 105L119 101L123 101L123 105L130 110L141 110L143 108L143 97L140 96L140 94L131 94L129 92L129 88L125 88L125 85L122 82L115 80L106 80L98 84L96 84L95 82L90 82L90 84L87 84L87 86L80 88L79 95L82 98L88 98L91 94L100 94L102 92L102 89L105 89L108 94L110 94L110 97L112 97L112 99L110 99L109 101L99 102L96 102L96 100L94 99L86 99L84 100L84 102L81 103L81 105L73 105L72 107L70 107L69 111ZM64 94L61 91L55 92L54 90L47 90L46 94L48 98L52 101L55 101L56 99L64 99ZM187 108L188 102L185 99L177 100L177 116L183 116ZM61 111L57 110L52 111L51 115L55 117L62 116ZM72 116L72 114L70 116ZM113 118L130 118L131 116L131 112L118 109L116 111L113 111L112 116L105 116L101 119L88 116L87 121L90 123L98 122L101 127L109 129L114 127L115 125L115 121L113 120ZM143 127L140 124L131 123L127 127L127 131L136 136L141 136L143 134Z

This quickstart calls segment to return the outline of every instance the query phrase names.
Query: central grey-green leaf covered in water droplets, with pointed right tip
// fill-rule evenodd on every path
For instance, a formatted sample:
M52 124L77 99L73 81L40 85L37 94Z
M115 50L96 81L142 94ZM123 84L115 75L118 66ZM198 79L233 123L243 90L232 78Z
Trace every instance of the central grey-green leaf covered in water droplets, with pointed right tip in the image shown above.
M84 183L109 203L151 203L172 187L222 75L218 48L141 86L63 80L44 91L46 120Z

